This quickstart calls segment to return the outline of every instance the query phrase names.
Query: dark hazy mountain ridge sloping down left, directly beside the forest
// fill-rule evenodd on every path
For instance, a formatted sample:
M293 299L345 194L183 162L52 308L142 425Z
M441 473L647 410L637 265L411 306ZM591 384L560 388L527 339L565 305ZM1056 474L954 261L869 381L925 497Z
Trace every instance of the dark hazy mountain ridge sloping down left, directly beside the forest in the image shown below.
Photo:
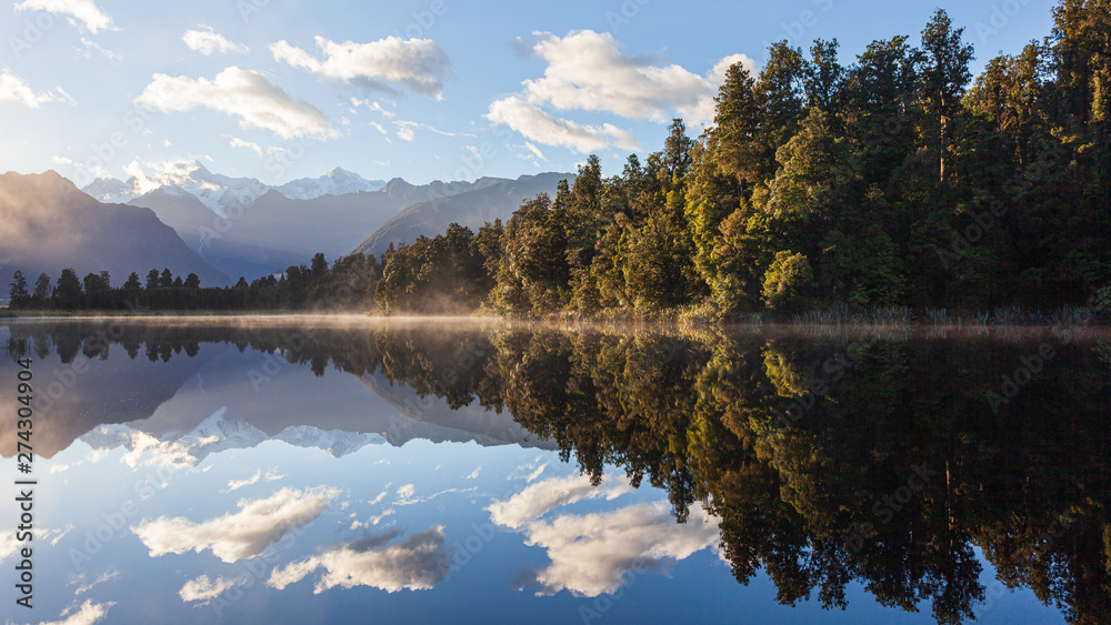
M508 220L521 203L538 193L556 194L560 180L574 180L568 173L522 175L517 180L481 179L477 190L412 205L382 224L356 245L356 252L380 255L390 243L412 243L421 234L434 236L452 222L478 229L494 219Z

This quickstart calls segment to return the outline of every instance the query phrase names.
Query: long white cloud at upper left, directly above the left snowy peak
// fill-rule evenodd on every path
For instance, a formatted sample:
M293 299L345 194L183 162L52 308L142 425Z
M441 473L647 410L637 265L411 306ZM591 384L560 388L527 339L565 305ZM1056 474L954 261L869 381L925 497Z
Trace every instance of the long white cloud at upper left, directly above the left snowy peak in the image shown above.
M136 103L174 112L206 107L239 118L241 128L261 128L282 139L339 137L316 107L290 97L261 72L237 67L213 80L157 73Z

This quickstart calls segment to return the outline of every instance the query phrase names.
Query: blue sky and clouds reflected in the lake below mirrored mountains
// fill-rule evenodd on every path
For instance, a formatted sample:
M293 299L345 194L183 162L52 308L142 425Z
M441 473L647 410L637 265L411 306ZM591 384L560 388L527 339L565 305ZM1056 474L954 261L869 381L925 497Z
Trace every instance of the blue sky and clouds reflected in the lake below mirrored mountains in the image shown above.
M219 355L207 370L227 373L219 363L228 357L239 356ZM289 389L311 392L316 380L330 393L366 391L344 374L287 370ZM928 605L924 614L887 609L859 584L847 612L780 606L765 576L737 584L717 551L715 520L697 505L677 524L664 492L632 488L619 470L592 487L552 451L419 438L393 446L381 436L346 454L312 446L312 435L334 442L334 430L203 440L227 435L220 426L232 413L259 412L241 407L260 399L246 376L221 380L219 397L239 407L198 399L194 376L158 409L157 436L117 425L38 460L36 607L6 608L13 622L932 622ZM313 396L321 412L338 401ZM264 405L287 411L267 417L282 427L313 422L289 414L303 404ZM196 453L201 444L209 453ZM0 518L17 518L13 496ZM8 579L13 546L11 536L0 542ZM13 606L12 584L0 588ZM1029 591L989 596L981 622L1061 622Z

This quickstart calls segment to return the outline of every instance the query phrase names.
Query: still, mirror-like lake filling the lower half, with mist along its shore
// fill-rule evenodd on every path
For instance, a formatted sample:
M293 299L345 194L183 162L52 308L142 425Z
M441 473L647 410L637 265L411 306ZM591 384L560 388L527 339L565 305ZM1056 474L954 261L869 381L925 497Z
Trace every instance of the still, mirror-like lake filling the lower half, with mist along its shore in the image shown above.
M6 321L0 614L1111 623L1109 343L1062 325Z

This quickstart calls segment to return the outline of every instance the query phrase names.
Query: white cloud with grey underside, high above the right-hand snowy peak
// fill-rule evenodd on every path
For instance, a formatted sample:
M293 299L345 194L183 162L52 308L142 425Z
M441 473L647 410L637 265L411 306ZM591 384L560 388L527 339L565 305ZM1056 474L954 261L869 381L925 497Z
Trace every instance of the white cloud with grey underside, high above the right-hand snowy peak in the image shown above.
M443 98L448 78L448 56L431 39L387 37L369 43L337 43L317 37L324 56L317 59L286 40L270 44L274 60L343 82L393 91L388 83L401 84L433 100Z

